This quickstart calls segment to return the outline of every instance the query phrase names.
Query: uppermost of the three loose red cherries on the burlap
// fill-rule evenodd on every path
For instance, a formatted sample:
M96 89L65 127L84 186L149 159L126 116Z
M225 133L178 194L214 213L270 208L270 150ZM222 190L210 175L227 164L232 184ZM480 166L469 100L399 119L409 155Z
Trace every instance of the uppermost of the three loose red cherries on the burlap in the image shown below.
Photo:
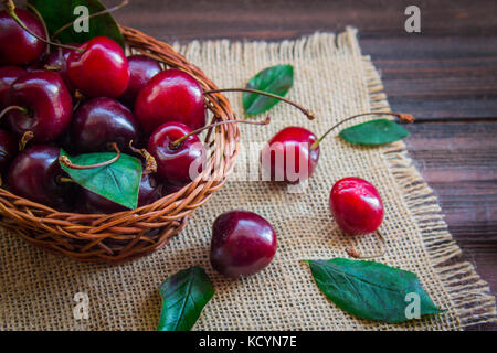
M316 135L302 127L284 128L263 148L263 169L272 181L296 183L310 178L319 160L319 146L310 149L316 140Z

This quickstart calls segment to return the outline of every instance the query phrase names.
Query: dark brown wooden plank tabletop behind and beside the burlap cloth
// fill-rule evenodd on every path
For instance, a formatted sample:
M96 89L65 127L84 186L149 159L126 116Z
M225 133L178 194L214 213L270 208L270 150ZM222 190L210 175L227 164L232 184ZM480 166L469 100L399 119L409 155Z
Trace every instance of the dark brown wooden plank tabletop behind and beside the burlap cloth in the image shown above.
M108 6L116 1L104 1ZM421 33L404 10L421 9ZM119 23L163 41L294 39L359 29L392 109L412 113L409 151L450 231L497 292L497 1L131 0ZM474 327L496 330L497 325Z

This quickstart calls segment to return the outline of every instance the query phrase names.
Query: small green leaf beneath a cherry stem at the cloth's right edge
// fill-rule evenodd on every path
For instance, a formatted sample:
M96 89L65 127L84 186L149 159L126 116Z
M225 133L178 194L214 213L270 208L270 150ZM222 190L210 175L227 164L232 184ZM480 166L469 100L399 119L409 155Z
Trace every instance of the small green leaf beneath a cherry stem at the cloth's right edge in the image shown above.
M388 119L377 119L351 126L340 131L340 137L356 145L379 146L399 141L409 135L399 124Z

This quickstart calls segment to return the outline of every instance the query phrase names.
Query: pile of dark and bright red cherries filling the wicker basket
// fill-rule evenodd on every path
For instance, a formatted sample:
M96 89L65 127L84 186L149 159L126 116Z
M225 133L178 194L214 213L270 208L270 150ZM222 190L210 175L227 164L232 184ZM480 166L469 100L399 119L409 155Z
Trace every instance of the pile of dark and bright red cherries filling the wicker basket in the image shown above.
M15 14L45 39L36 17ZM2 188L61 211L126 211L71 182L59 162L61 148L75 156L112 150L112 142L129 154L146 148L157 162L157 173L144 172L138 206L191 182L193 161L201 172L204 147L187 135L205 125L204 95L191 75L144 55L126 57L103 36L46 49L0 12Z

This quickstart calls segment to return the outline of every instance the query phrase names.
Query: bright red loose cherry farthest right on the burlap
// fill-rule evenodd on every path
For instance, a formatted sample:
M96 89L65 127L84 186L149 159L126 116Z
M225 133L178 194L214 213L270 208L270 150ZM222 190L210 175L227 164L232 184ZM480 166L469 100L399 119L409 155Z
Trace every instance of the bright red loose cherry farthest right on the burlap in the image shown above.
M350 235L372 233L383 221L383 202L378 190L359 178L343 178L335 183L329 208L340 228Z

